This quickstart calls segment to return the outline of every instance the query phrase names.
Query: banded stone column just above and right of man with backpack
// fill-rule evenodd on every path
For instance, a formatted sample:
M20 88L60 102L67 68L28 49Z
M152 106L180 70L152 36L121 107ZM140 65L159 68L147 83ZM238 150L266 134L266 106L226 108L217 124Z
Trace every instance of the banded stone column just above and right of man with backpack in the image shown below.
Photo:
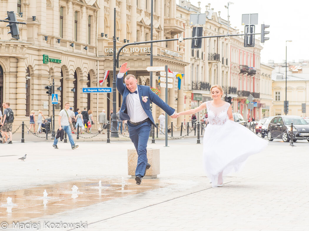
M16 115L26 115L26 63L25 58L18 58L16 84Z

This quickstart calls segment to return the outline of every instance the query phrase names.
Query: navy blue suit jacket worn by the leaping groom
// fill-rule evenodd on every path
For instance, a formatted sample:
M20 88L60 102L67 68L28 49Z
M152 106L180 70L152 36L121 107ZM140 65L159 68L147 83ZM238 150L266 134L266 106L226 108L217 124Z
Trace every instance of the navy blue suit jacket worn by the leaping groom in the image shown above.
M116 87L120 94L122 95L122 104L119 112L119 116L121 120L130 120L127 111L126 98L129 94L129 89L123 83L123 77L117 78ZM149 86L137 85L139 99L141 101L142 107L146 113L146 115L150 118L151 122L155 125L154 118L152 117L152 113L150 111L150 101L161 107L168 115L172 115L175 111L174 108L168 106L158 95L156 95L153 91L151 91ZM142 101L142 96L148 96L147 102Z

